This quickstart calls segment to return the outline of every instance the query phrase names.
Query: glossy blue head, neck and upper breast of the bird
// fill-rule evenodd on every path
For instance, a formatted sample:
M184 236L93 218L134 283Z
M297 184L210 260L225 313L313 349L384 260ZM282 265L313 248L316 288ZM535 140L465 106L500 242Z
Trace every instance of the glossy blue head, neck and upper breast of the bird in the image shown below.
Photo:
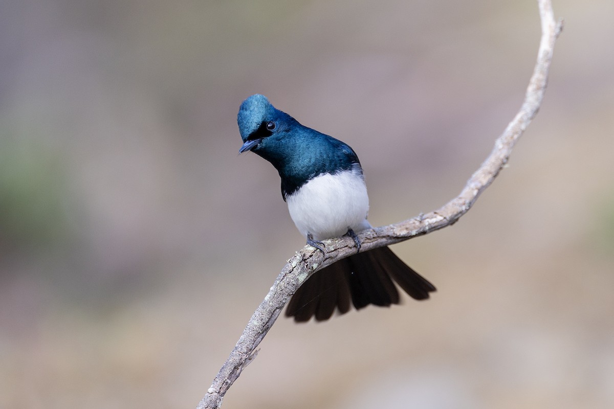
M239 153L252 151L271 162L281 177L284 198L317 175L360 168L352 148L301 125L263 95L243 101L237 123L243 139Z

